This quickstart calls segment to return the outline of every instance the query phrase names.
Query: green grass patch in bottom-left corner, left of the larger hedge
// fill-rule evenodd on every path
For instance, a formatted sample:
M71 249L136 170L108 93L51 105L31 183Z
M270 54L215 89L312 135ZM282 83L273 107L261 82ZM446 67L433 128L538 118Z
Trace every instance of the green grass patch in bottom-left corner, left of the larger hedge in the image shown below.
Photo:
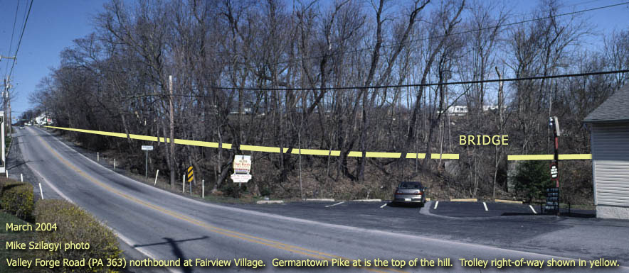
M33 240L33 233L30 231L18 231L18 232L7 232L6 224L14 223L14 224L25 224L26 221L17 218L16 216L12 216L9 213L4 211L0 211L0 241L1 242L11 242L18 241L21 243L27 243ZM0 246L0 272L32 272L32 269L27 269L25 267L9 267L6 264L6 259L9 258L23 258L28 260L34 260L36 258L36 253L31 250L7 250L6 245Z

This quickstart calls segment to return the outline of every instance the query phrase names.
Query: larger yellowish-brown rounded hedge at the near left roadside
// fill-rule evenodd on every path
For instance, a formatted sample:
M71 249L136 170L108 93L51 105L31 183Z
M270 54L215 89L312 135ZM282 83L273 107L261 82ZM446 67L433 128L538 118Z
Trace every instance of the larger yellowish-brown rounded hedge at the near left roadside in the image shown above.
M53 260L83 260L88 262L90 258L99 258L103 264L107 259L120 257L122 250L118 247L116 236L105 225L99 223L94 216L87 211L70 204L65 200L46 199L40 200L33 213L37 223L56 223L56 231L37 233L38 240L44 242L89 243L89 250L68 250L46 252L46 259ZM57 267L57 272L85 272L89 268L82 267ZM90 269L90 272L112 272L113 268L101 267Z

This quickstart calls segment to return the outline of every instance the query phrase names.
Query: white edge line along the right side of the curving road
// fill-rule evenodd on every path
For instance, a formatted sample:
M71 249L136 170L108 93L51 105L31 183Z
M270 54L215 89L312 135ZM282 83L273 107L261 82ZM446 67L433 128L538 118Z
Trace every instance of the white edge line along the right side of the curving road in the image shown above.
M48 131L46 131L46 130L43 130L43 129L41 129L41 130L44 133L48 134L48 135L52 135L51 133L48 133ZM73 148L71 148L67 144L63 143L63 141L58 140L58 142L61 145L64 145L65 147L68 147L70 150L74 150ZM88 162L90 162L91 164L93 164L95 166L100 166L102 169L107 169L107 167L102 166L102 165L98 164L97 162L94 162L94 160L91 160L90 158L86 157L82 153L80 153L80 152L77 152L77 153L78 153L78 155L80 155L80 156L84 157L86 160L88 160ZM107 169L107 170L111 171L111 169ZM409 239L412 238L412 239L427 240L427 241L438 242L438 243L448 243L448 244L451 244L451 245L474 246L474 247L480 248L481 250L501 250L503 252L508 252L509 254L512 254L512 255L528 254L528 255L536 255L538 257L545 257L545 258L554 257L554 258L563 259L563 260L576 260L577 259L577 258L561 257L561 256L548 255L548 254L542 254L542 253L536 253L536 252L527 252L527 251L522 251L522 250L512 250L512 249L509 249L509 248L502 248L502 247L492 247L492 246L489 246L489 245L478 245L478 244L475 244L475 243L462 243L462 242L452 241L452 240L430 238L430 237L421 236L421 235L409 235L409 234L403 234L403 233L393 233L393 232L384 231L384 230L372 230L372 229L368 229L368 228L356 228L356 227L352 227L352 226L348 226L348 225L338 225L338 224L332 224L332 223L323 223L323 222L306 220L306 219L302 219L302 218L281 216L281 215L275 214L275 213L264 213L264 212L260 212L260 211L250 211L250 210L245 209L245 208L234 208L234 207L228 207L228 206L221 206L221 205L217 205L217 204L206 203L206 202L195 200L195 199L189 199L188 197L180 196L179 194L174 194L174 193L171 193L170 191L166 191L164 189L156 188L154 186L151 186L150 184L144 184L142 182L138 182L138 181L136 181L134 179L131 179L129 177L125 177L124 175L119 174L117 172L113 172L113 174L114 175L117 174L118 176L126 179L129 182L137 183L138 185L144 186L147 189L152 189L152 190L155 190L155 191L162 191L162 193L164 193L166 195L169 195L169 196L172 196L172 197L174 197L176 199L180 199L182 201L190 201L190 202L199 204L201 206L206 206L208 208L219 208L219 209L223 209L223 210L226 210L226 211L236 211L236 212L240 212L240 213L248 213L250 215L255 215L255 216L264 216L264 217L275 218L275 219L284 220L284 221L293 221L293 222L297 222L297 223L307 223L307 224L311 224L311 225L324 226L324 227L327 227L327 228L339 228L339 229L344 229L344 230L351 230L353 232L371 233L371 234L379 234L379 235L389 235L389 236L395 236L397 238L409 238ZM439 201L437 201L437 203L438 202ZM619 268L623 268L623 269L629 269L629 267L624 267L622 265L620 265L618 267Z

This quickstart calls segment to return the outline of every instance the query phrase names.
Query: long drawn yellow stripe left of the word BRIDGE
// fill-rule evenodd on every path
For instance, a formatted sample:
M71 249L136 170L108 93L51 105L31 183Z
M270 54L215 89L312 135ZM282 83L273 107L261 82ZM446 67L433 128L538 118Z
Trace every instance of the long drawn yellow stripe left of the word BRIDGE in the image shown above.
M100 130L84 130L84 129L75 129L75 128L63 128L63 127L55 127L55 126L45 126L47 128L53 128L58 130L71 130L80 133L91 133L95 135L108 135L116 138L127 138L127 134L125 133L112 133L112 132L104 132ZM147 141L155 141L162 143L169 143L169 138L157 138L149 135L133 135L129 134L129 138L136 140L147 140ZM213 147L218 148L218 143L199 141L199 140L181 140L175 138L175 144L181 145L192 145L192 146L201 146L201 147ZM223 143L221 145L223 149L231 149L231 143ZM282 147L268 147L268 146L254 146L254 145L240 145L240 150L243 151L251 151L251 152L288 152L289 148ZM290 151L292 155L322 155L322 156L332 156L338 157L341 155L341 151L339 150L314 150L314 149L292 149ZM363 153L360 151L350 151L347 155L348 157L362 157ZM424 159L426 156L425 153L407 153L407 159ZM365 157L373 157L373 158L400 158L402 157L401 152L365 152ZM443 159L443 160L458 160L459 154L431 154L430 158L433 160Z

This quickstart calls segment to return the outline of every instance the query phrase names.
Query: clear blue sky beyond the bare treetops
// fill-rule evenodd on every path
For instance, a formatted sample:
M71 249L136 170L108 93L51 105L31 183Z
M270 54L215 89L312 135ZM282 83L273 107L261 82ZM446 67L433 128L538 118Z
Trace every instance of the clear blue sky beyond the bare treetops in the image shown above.
M52 67L58 67L59 53L72 45L73 40L93 32L93 17L102 11L102 5L108 0L34 0L31 13L26 22L26 30L17 52L17 61L11 74L14 85L14 99L11 101L13 117L17 118L23 111L32 108L28 96L36 90L41 78L46 77ZM497 0L501 1L501 0ZM538 1L502 0L512 6L512 13L517 16L514 20L529 18L529 11L539 3ZM561 13L591 9L598 6L608 6L628 2L629 0L565 0L565 8ZM28 9L29 0L0 0L0 55L15 55L19 34L23 26L24 16ZM14 30L18 7L17 20L13 43L11 32ZM592 26L596 26L596 33L610 33L612 30L626 30L629 28L629 4L615 6L609 9L583 13L583 18ZM601 35L588 38L586 47L596 50L602 45ZM11 47L11 51L9 49ZM0 77L6 77L11 69L12 60L0 61ZM8 66L8 67L7 67ZM7 69L8 68L8 69ZM0 82L1 84L1 82ZM0 88L4 88L1 87Z

